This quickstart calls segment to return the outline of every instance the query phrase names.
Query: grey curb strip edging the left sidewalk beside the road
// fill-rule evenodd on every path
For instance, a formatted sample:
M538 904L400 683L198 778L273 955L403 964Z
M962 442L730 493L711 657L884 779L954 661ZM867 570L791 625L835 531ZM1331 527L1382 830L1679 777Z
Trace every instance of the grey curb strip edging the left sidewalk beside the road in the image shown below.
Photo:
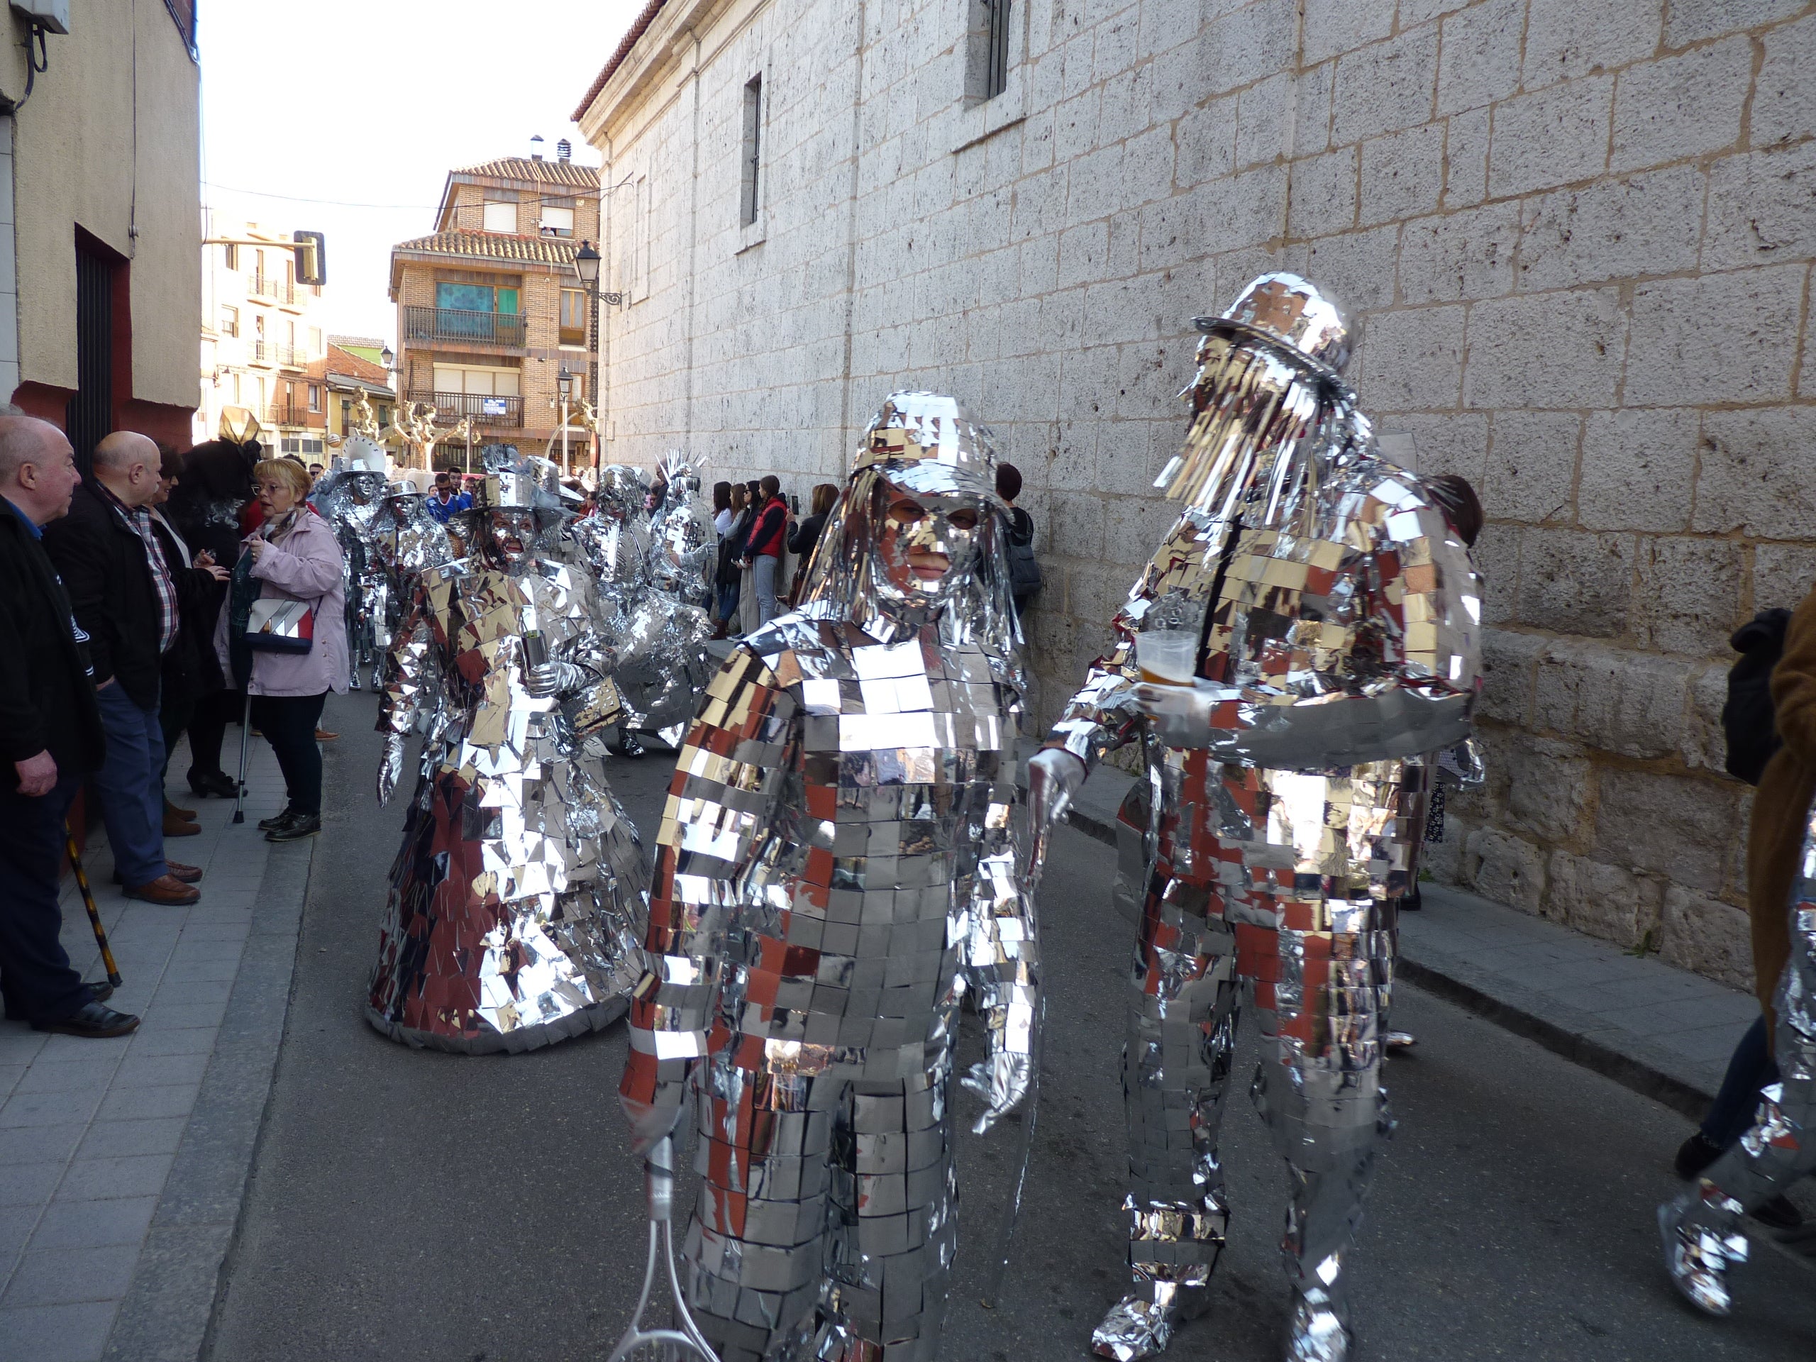
M312 859L314 841L265 861L214 1053L102 1362L202 1355L271 1100Z

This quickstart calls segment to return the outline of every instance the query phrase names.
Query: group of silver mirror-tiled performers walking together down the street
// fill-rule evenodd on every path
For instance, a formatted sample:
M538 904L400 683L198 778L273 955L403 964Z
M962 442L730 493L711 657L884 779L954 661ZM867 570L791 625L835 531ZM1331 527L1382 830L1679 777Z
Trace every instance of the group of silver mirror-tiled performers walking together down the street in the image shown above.
M518 1051L628 1012L632 1146L697 1128L683 1291L723 1362L937 1357L961 1001L988 1033L961 1075L982 1131L1037 1081L1044 832L1130 743L1148 772L1122 814L1135 1286L1091 1346L1153 1357L1208 1304L1246 1008L1289 1173L1286 1357L1351 1355L1397 912L1436 755L1469 737L1480 577L1440 501L1380 458L1326 294L1266 274L1197 325L1191 423L1159 481L1177 521L1026 795L999 450L953 398L888 398L795 608L710 677L714 536L679 459L654 516L643 476L608 467L576 519L554 465L489 458L436 552L383 487L334 492L389 639L381 799L421 735L367 1015L410 1044ZM648 850L607 781L614 725L679 746ZM1725 1222L1676 1217L1709 1271Z

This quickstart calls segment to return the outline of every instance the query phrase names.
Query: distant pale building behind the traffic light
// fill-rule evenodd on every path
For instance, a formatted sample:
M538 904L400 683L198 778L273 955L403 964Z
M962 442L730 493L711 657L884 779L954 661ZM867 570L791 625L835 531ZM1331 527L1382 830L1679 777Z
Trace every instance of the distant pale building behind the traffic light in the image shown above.
M258 418L272 450L320 461L329 394L311 369L327 354L323 285L296 281L289 231L216 218L202 251L196 439L212 439L232 407Z

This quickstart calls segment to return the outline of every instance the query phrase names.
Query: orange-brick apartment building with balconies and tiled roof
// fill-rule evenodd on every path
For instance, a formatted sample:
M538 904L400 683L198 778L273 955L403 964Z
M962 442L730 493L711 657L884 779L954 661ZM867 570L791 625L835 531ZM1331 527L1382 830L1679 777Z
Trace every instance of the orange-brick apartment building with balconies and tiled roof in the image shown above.
M599 171L507 156L452 171L436 231L390 251L400 398L439 425L472 419L476 441L559 456L559 376L570 374L568 443L592 463L577 403L590 392L587 291L574 272L599 238ZM436 447L458 467L463 441Z

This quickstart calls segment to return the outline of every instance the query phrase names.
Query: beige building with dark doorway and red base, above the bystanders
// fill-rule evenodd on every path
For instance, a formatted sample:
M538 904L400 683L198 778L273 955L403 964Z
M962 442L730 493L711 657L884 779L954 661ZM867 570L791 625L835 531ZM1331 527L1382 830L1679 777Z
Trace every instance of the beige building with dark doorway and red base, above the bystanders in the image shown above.
M0 18L0 400L187 449L202 296L194 5L73 0Z

